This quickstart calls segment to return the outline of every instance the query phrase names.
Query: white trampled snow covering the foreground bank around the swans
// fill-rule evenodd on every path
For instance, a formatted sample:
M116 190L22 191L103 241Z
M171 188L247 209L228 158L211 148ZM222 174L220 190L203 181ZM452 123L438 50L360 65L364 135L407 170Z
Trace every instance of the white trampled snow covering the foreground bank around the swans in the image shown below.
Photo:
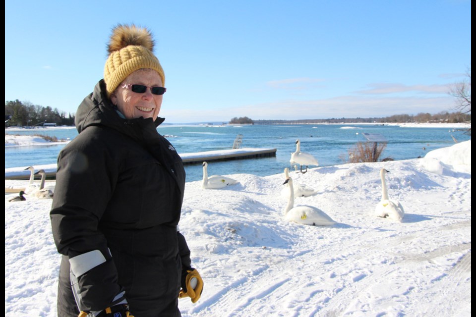
M382 167L402 222L372 214ZM471 140L422 159L290 175L317 191L295 206L338 224L285 221L284 173L227 175L239 184L216 190L186 183L180 231L204 290L195 304L179 300L183 317L471 316ZM8 202L14 195L5 194L5 316L56 316L52 201Z

